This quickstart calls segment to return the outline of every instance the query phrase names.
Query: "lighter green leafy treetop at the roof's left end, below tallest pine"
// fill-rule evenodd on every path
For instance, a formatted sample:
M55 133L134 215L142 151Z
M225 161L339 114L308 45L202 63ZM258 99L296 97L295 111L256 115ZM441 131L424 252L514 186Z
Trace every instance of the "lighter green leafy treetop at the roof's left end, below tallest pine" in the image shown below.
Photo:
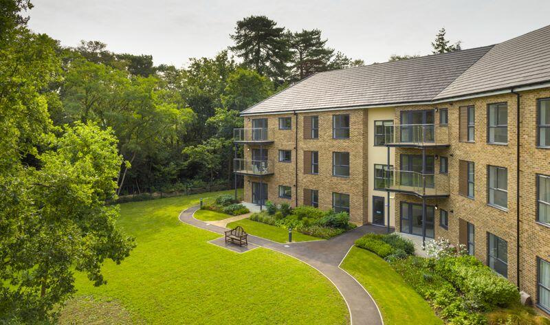
M269 79L254 70L239 68L228 77L221 102L225 108L243 111L272 93L273 84Z

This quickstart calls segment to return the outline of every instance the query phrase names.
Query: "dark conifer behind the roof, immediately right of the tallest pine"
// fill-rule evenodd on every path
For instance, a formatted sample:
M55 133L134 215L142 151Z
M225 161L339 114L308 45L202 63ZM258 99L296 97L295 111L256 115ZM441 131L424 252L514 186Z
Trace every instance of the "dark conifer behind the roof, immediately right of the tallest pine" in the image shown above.
M291 75L294 80L329 69L334 50L326 47L327 40L321 39L320 30L302 30L289 33L289 47L292 52Z

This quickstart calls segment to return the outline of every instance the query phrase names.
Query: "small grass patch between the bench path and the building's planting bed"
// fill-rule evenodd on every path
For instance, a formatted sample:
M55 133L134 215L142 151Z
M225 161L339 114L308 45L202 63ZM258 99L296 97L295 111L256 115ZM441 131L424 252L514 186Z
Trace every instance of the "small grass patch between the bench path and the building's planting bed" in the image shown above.
M267 225L267 223L259 223L257 221L252 221L249 218L228 223L227 227L229 229L232 229L238 225L243 227L243 229L245 229L245 232L248 232L248 234L273 240L273 241L276 241L277 243L288 243L287 229L284 229L281 227L275 227L274 225ZM320 240L320 238L305 235L305 234L300 234L299 232L292 232L293 242L307 241L307 240Z

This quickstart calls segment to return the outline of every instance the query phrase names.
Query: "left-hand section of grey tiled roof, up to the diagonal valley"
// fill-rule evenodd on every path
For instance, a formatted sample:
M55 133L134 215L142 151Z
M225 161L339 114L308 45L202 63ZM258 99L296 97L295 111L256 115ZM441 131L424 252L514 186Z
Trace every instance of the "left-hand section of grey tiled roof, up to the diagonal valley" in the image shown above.
M242 113L357 107L431 100L491 46L321 72Z

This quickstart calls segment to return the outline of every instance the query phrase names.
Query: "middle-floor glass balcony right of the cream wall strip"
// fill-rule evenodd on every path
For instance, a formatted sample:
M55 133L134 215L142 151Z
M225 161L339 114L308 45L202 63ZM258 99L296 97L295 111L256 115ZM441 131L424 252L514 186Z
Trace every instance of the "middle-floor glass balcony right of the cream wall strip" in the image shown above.
M384 179L386 190L413 194L417 197L448 197L449 175L421 174L409 170L388 170Z

